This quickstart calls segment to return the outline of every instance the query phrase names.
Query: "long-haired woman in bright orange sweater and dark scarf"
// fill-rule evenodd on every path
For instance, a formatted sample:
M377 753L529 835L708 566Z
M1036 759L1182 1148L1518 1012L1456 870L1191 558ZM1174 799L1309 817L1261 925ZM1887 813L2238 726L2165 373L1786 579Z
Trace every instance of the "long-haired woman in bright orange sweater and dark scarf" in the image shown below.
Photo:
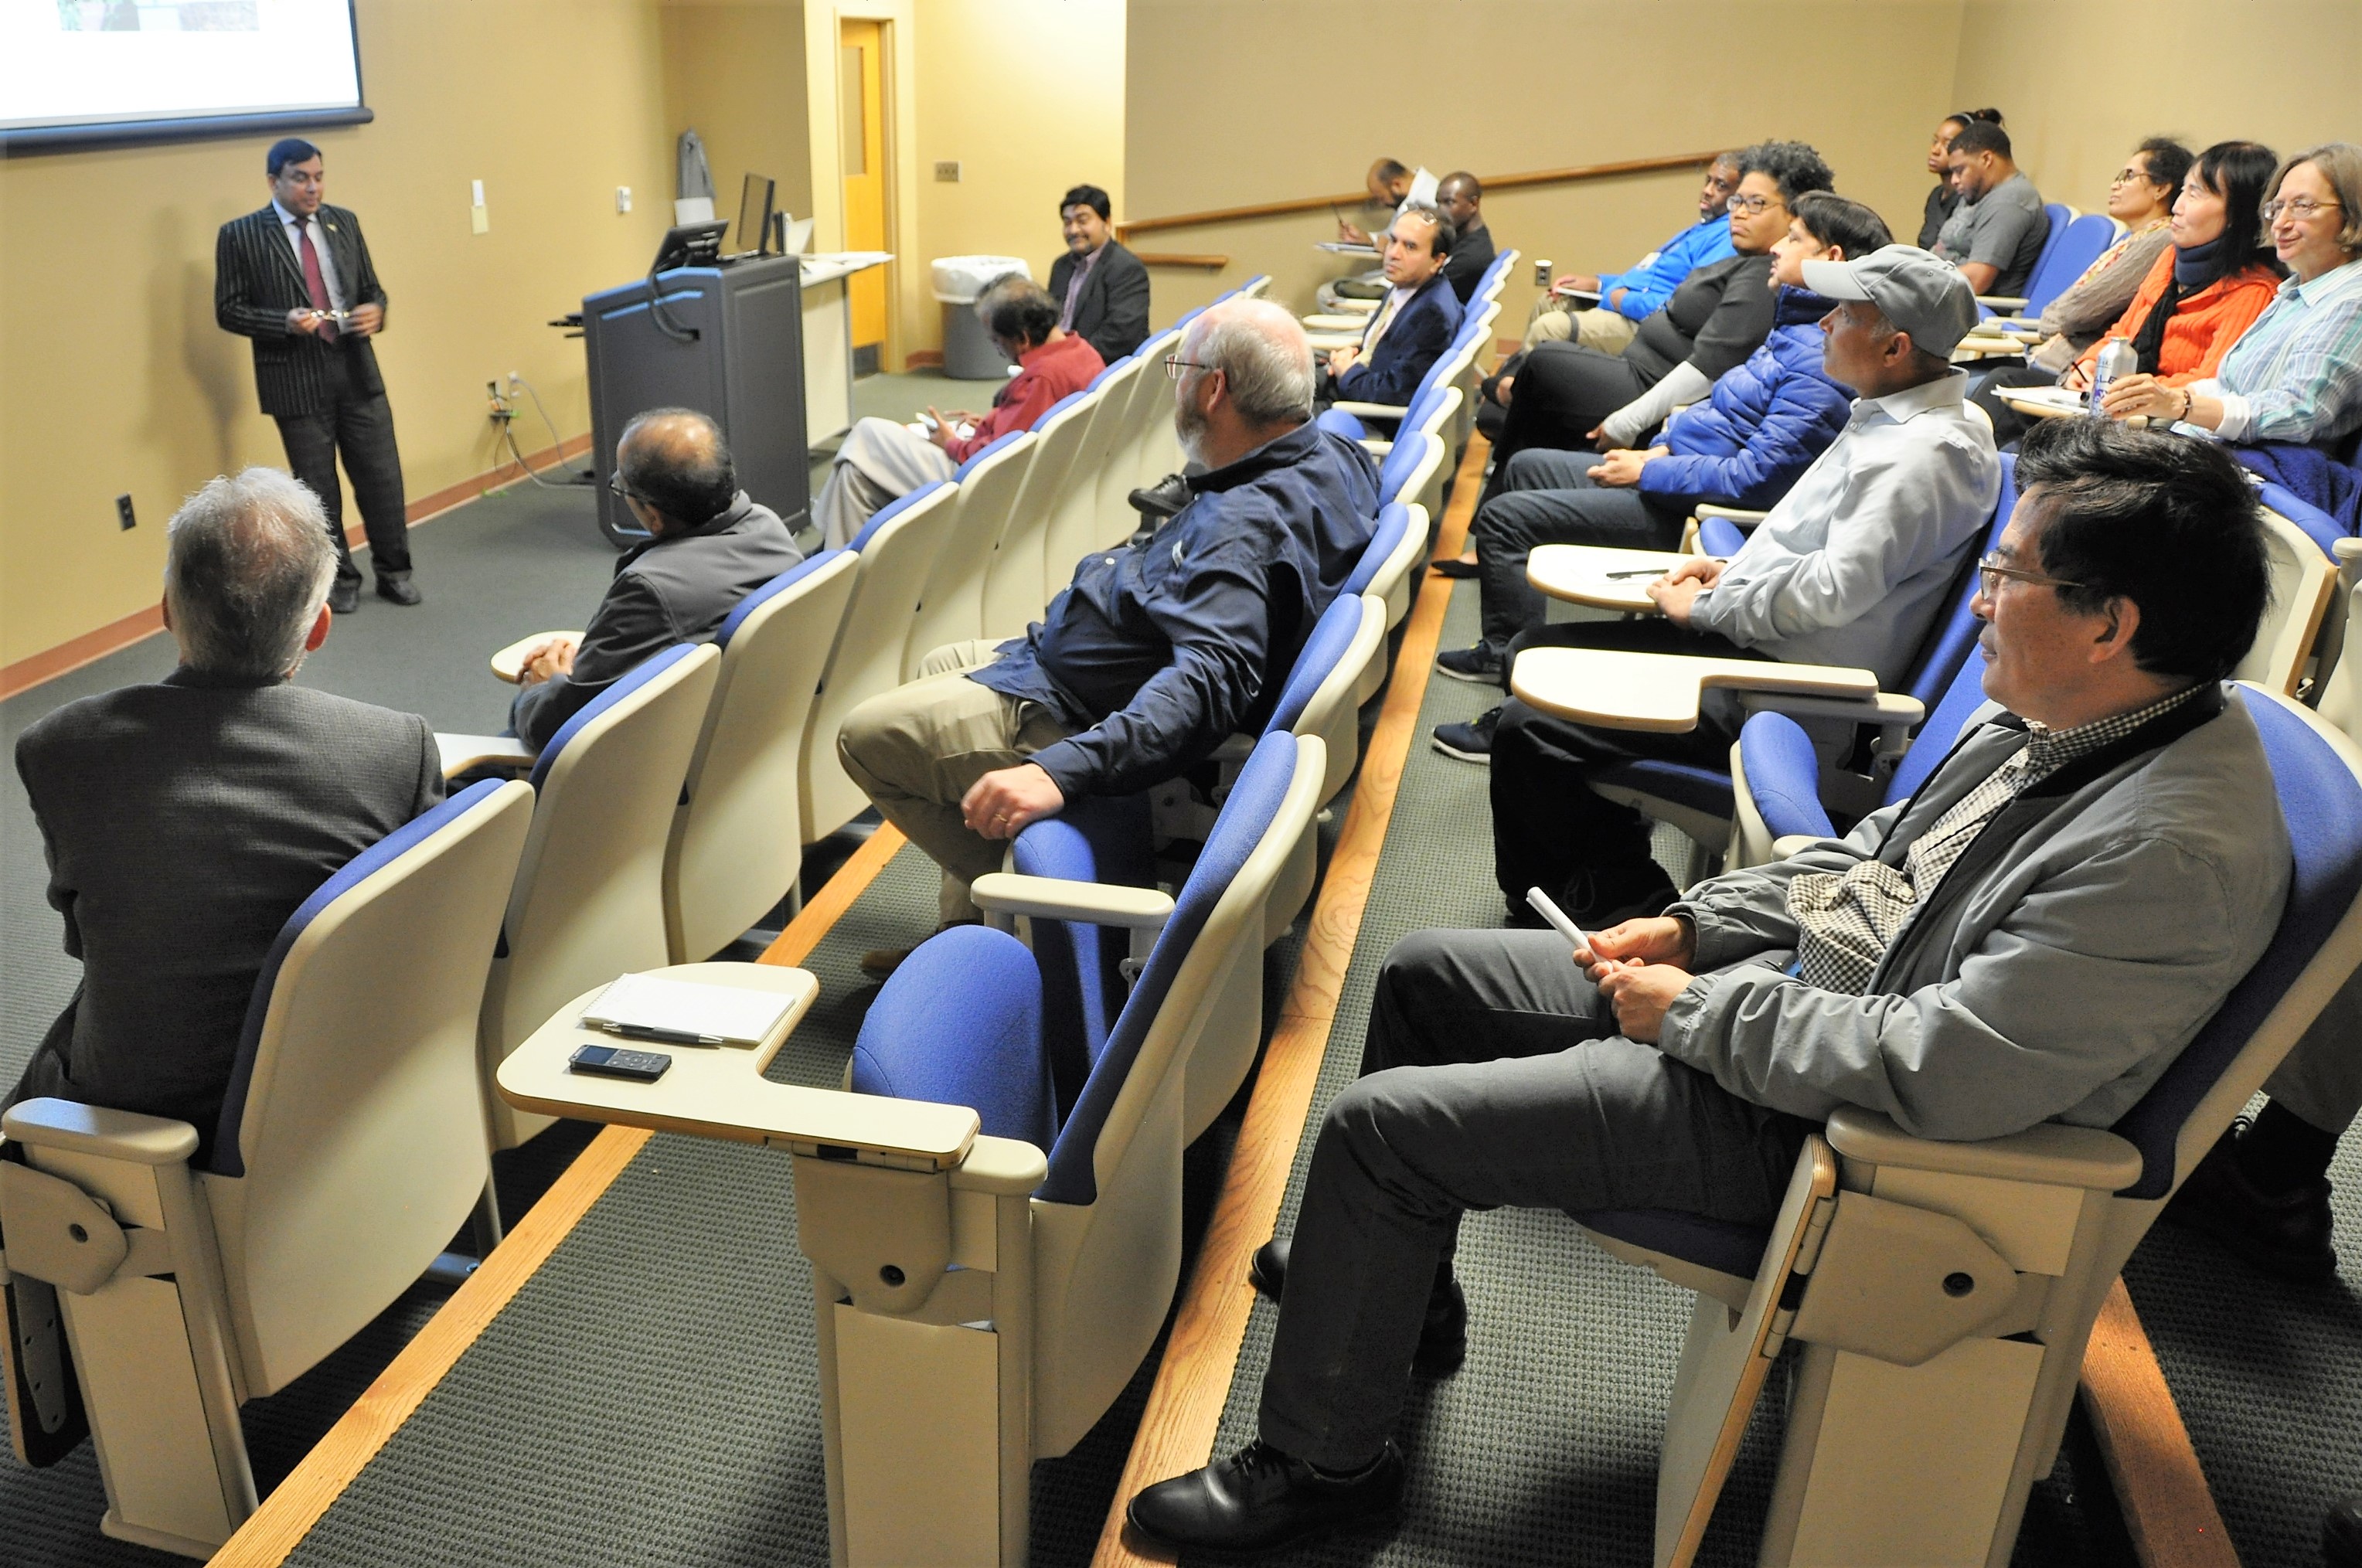
M2107 333L2057 375L2057 385L2090 387L2093 364L2109 338L2126 338L2138 354L2138 373L2180 387L2204 380L2223 364L2279 288L2279 264L2263 231L2263 196L2279 168L2270 146L2216 142L2182 179L2173 201L2173 243L2149 267L2133 302ZM2050 383L2038 368L1996 371L1977 387L1977 401L1994 416L1994 437L2024 432L2024 416L1994 397L1996 387Z

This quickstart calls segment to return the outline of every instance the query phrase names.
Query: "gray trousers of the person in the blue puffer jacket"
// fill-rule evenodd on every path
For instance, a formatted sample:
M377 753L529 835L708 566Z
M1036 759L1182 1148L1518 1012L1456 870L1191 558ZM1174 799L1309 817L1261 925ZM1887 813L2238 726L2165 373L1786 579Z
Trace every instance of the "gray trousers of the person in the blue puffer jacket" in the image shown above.
M1549 612L1542 590L1526 581L1535 545L1672 550L1682 543L1686 503L1599 484L1585 472L1597 463L1590 451L1528 446L1493 475L1469 538L1476 543L1479 626L1495 654L1509 652L1509 640Z

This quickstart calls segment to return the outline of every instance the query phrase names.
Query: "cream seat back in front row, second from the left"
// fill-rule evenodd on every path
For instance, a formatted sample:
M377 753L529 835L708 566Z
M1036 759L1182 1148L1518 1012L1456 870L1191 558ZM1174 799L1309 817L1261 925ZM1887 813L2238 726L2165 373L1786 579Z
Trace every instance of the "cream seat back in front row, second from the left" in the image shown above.
M652 654L569 718L534 763L534 831L479 1030L494 1148L548 1126L491 1091L501 1058L583 989L666 963L664 852L718 666L711 642Z

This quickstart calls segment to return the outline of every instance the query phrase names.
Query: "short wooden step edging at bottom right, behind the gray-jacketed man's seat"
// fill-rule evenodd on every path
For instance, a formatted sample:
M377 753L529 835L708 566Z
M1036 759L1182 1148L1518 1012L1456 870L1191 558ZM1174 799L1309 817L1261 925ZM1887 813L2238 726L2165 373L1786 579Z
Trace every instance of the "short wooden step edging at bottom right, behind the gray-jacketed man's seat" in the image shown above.
M2239 1568L2123 1280L2107 1292L2083 1348L2083 1410L2142 1568Z

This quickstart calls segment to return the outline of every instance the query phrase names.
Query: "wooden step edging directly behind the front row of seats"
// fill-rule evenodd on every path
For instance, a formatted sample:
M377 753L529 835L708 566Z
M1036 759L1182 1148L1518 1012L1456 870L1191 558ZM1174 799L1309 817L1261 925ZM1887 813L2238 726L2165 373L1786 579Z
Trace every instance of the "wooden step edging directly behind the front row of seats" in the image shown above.
M763 952L763 963L798 963L820 940L829 935L836 919L876 878L895 850L902 834L881 827L855 850L836 876L831 876L813 902L787 923L779 940ZM376 1452L399 1426L411 1419L420 1400L458 1365L458 1358L475 1344L477 1334L501 1315L501 1308L517 1289L534 1278L534 1270L557 1249L557 1242L574 1230L574 1223L590 1211L590 1204L624 1174L631 1157L647 1143L647 1131L635 1126L609 1126L590 1141L565 1176L550 1183L522 1221L508 1233L484 1266L468 1275L442 1311L428 1320L418 1337L378 1374L359 1400L328 1429L328 1436L305 1455L286 1481L281 1481L255 1516L213 1556L215 1568L276 1568L286 1561L328 1504L342 1495L352 1478L361 1474Z

